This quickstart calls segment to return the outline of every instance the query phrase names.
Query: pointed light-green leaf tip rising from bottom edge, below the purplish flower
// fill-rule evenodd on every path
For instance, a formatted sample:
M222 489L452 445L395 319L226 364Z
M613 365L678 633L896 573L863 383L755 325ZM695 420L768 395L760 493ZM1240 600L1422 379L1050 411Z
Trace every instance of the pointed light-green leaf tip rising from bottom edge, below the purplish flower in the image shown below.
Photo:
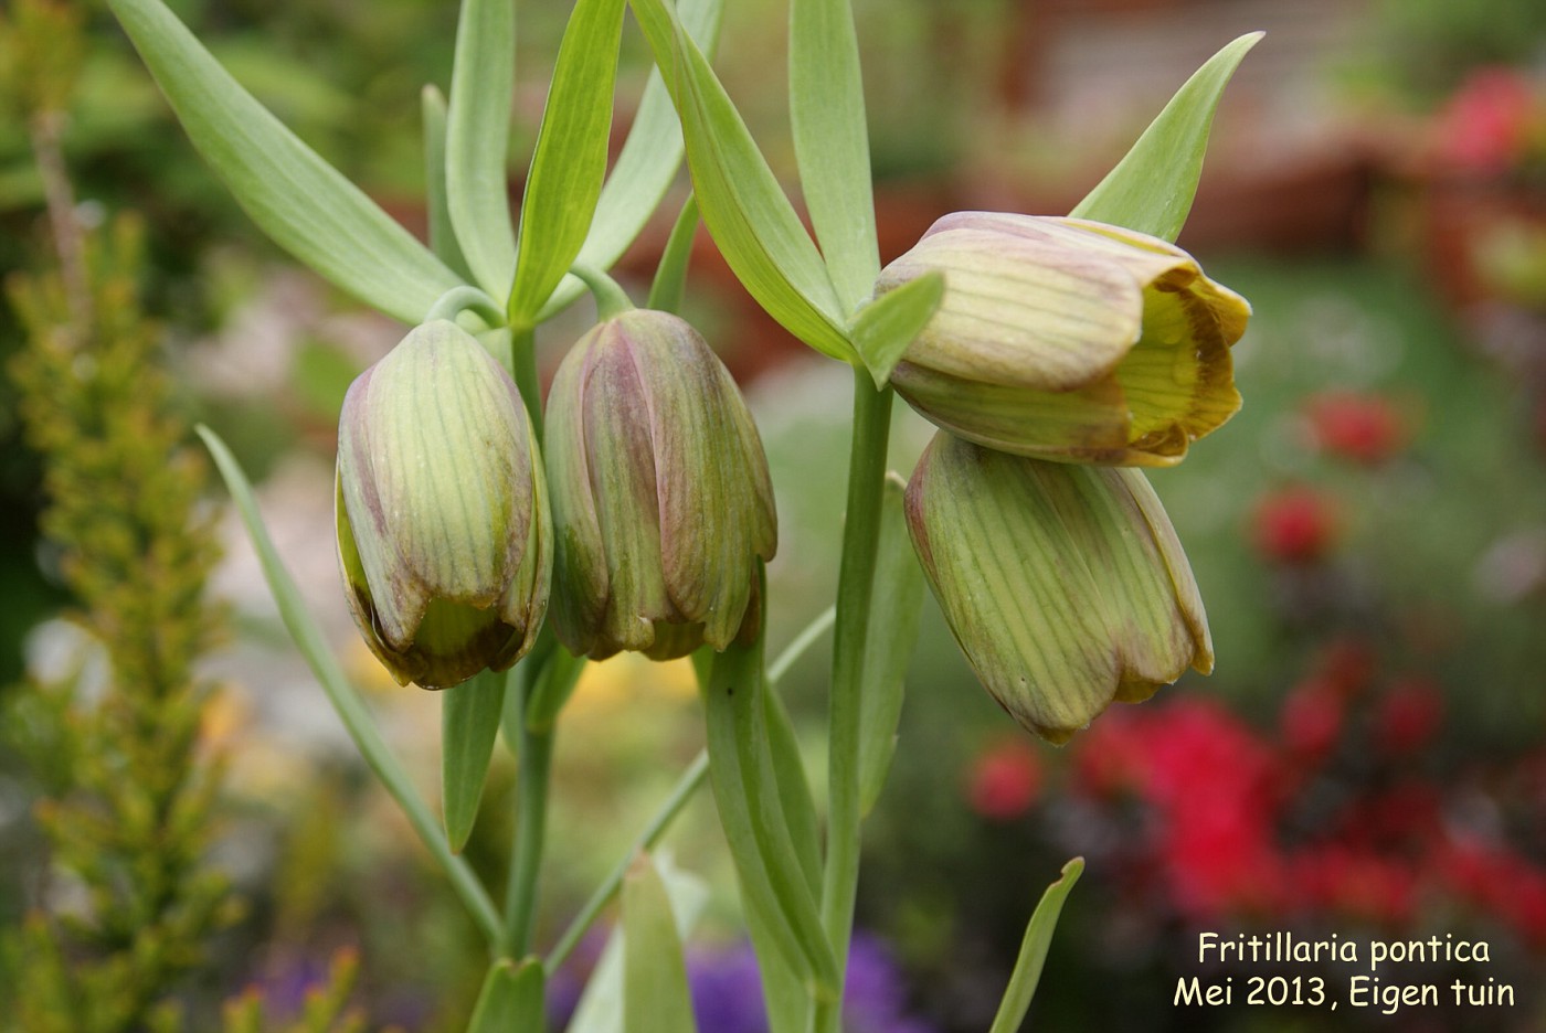
M623 879L623 1030L693 1033L693 997L671 897L646 854Z

